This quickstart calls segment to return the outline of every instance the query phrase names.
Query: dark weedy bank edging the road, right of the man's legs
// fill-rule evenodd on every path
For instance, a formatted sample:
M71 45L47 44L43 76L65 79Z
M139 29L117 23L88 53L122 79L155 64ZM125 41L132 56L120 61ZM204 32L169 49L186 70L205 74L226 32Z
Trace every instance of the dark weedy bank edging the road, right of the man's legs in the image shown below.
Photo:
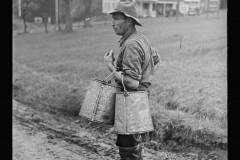
M213 151L216 148L227 149L225 136L216 135L204 128L193 130L184 125L184 120L167 119L159 120L152 117L154 131L150 133L150 142L146 146L154 150L171 150L174 152L185 151L189 147L195 147L202 151Z

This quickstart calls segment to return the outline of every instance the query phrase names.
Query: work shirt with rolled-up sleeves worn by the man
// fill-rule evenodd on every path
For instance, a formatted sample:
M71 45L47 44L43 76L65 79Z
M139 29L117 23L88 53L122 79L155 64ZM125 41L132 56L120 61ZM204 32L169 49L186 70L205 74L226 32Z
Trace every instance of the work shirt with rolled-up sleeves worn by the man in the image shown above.
M154 66L160 62L159 54L135 28L123 36L119 43L118 70L139 81L137 90L148 90L154 77Z

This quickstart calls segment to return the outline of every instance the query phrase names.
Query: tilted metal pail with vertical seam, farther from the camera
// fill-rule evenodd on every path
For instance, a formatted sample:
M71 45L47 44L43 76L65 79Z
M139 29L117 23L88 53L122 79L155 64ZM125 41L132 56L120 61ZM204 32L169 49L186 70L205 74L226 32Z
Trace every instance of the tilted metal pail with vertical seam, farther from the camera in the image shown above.
M122 87L91 79L79 116L93 122L114 124L115 96Z

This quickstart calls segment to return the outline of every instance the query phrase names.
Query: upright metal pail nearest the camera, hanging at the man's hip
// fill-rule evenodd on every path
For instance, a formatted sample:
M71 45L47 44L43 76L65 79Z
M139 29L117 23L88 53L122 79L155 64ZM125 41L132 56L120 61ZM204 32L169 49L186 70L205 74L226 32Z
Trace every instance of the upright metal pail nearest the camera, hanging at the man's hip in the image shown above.
M124 87L124 85L123 85ZM153 130L148 92L116 93L114 128L118 134L137 134Z

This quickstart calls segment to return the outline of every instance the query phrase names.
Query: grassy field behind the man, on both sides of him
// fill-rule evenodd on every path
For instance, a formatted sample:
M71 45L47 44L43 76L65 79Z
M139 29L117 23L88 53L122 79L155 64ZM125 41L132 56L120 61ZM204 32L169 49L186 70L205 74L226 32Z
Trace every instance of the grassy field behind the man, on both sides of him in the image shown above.
M162 63L151 87L155 137L227 144L227 17L141 19ZM90 78L109 71L103 56L118 55L110 25L13 38L14 97L32 106L78 115ZM180 47L181 45L181 47ZM218 146L218 145L217 145ZM226 149L226 148L225 148Z

